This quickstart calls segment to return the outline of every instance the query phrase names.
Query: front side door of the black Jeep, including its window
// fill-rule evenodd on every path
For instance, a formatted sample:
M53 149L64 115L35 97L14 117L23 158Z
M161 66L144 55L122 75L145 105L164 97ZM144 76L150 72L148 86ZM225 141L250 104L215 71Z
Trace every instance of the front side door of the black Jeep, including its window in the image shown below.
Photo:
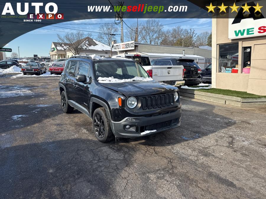
M87 62L79 61L77 66L76 75L86 75L85 82L74 82L74 95L76 106L85 109L89 112L89 96L90 96L90 78L89 78L90 64Z

